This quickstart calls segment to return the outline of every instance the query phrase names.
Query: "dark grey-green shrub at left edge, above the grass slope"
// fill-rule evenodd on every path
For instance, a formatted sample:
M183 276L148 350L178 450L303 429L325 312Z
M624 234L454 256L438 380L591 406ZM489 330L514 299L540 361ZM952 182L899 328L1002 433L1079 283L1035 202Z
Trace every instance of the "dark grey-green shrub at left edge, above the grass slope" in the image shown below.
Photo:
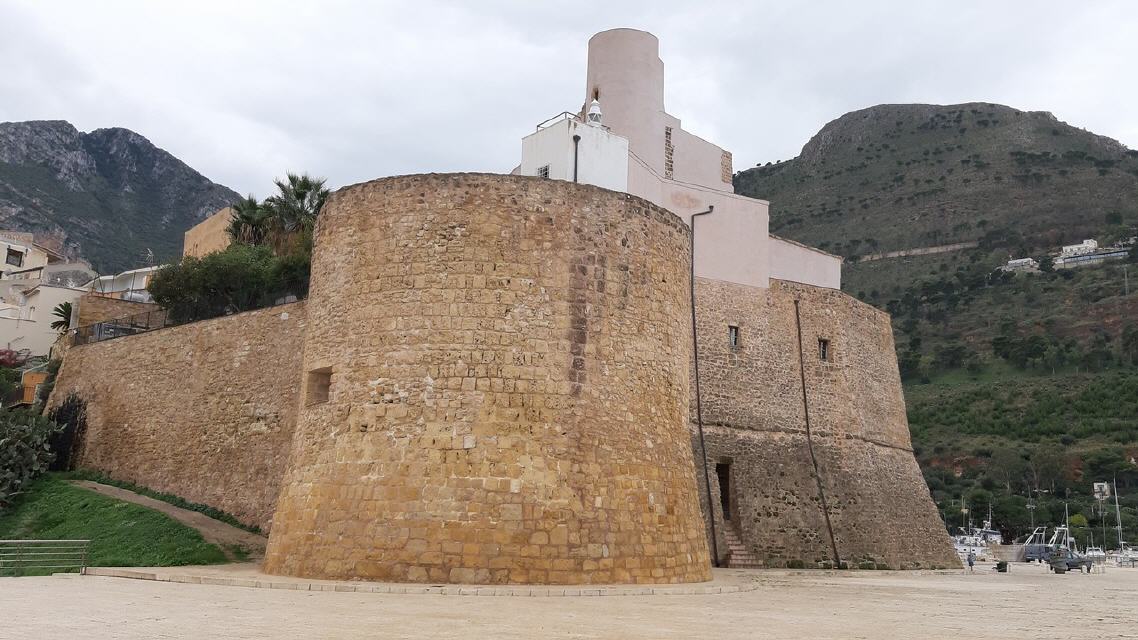
M0 412L0 508L22 493L55 458L51 420L31 411Z

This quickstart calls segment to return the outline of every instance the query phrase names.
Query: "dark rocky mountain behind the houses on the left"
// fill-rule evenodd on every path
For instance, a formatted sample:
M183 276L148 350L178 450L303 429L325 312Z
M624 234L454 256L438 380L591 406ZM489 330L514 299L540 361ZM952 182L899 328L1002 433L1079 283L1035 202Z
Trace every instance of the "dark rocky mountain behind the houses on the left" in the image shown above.
M0 123L0 229L48 238L100 273L179 255L187 229L238 197L127 129Z

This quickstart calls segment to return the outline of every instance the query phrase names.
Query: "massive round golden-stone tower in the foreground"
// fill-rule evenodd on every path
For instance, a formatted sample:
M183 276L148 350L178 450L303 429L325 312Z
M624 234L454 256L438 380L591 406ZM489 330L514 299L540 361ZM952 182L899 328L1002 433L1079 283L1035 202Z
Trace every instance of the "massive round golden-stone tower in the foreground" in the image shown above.
M269 573L696 582L688 230L626 194L489 174L337 191Z

